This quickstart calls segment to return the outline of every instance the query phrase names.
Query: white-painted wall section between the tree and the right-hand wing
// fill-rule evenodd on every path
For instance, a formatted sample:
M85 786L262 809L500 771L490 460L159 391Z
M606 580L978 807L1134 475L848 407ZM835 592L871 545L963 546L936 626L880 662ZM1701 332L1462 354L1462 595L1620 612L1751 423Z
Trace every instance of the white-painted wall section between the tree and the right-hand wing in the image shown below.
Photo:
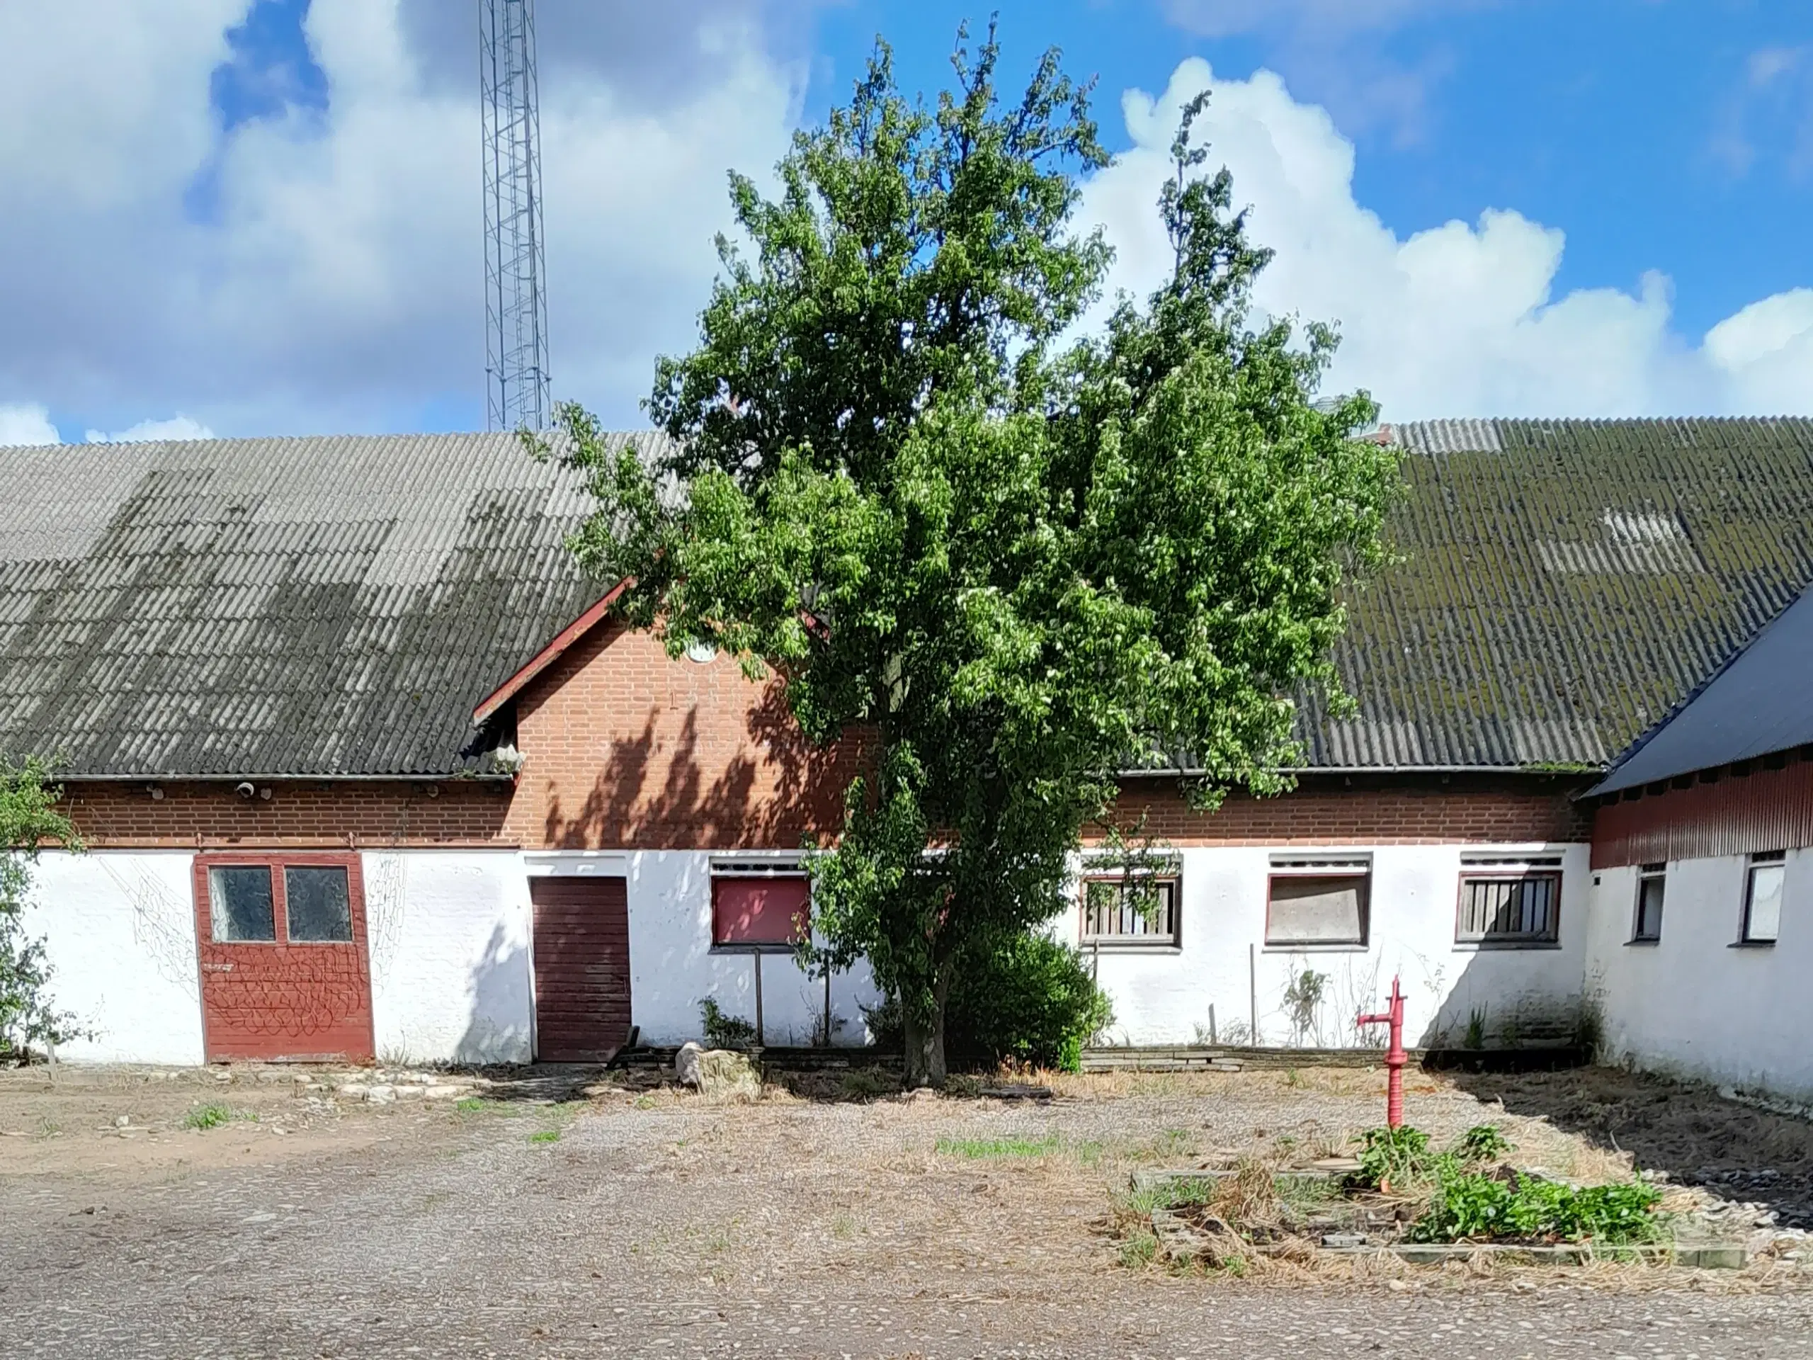
M1285 847L1278 847L1285 849ZM1287 847L1293 856L1316 847ZM1461 854L1561 854L1561 923L1556 948L1479 948L1454 943ZM1496 1032L1516 1017L1525 1034L1543 1023L1572 1023L1586 950L1588 847L1537 845L1380 845L1327 849L1329 858L1372 856L1371 930L1365 948L1269 948L1265 890L1273 849L1207 847L1177 852L1180 948L1122 947L1095 954L1097 979L1115 1006L1115 1043L1175 1044L1207 1041L1209 1006L1217 1037L1253 1026L1262 1044L1354 1046L1383 1043L1383 1030L1356 1034L1362 1008L1383 1010L1392 974L1401 976L1405 1037L1411 1044L1459 1043L1474 1006ZM1081 943L1081 914L1061 937ZM1318 1025L1296 1034L1284 1010L1294 972L1329 976ZM1198 1028L1200 1026L1200 1028ZM1233 1030L1238 1034L1238 1030Z

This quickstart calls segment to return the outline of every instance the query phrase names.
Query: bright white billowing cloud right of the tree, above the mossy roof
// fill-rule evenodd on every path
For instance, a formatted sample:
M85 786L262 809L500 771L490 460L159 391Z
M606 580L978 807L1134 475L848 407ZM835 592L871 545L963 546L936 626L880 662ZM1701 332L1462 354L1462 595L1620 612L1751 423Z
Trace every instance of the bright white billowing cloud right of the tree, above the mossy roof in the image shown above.
M1133 149L1084 190L1119 250L1113 287L1146 294L1169 250L1153 210L1178 109L1211 85L1184 62L1157 100L1128 91ZM1813 413L1813 292L1764 299L1693 345L1670 328L1672 285L1557 297L1565 238L1514 210L1400 238L1354 201L1354 147L1269 71L1213 82L1197 123L1255 238L1278 254L1255 301L1336 321L1331 390L1363 386L1385 419L1436 415Z

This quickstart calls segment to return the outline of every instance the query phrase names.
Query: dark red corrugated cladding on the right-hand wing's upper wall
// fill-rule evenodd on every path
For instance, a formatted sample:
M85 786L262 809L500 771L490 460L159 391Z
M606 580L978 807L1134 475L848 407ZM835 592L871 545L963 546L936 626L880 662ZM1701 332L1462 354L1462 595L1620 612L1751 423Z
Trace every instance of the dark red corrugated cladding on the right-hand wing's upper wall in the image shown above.
M1813 763L1726 774L1601 807L1592 867L1706 860L1813 845Z

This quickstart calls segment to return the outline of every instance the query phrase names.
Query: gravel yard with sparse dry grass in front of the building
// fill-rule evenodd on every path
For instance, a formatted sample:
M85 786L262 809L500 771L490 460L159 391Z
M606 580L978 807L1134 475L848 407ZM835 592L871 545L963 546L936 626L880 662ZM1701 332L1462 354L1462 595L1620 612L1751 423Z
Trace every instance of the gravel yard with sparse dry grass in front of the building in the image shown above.
M819 1079L731 1106L490 1075L372 1103L294 1070L0 1073L0 1351L1813 1355L1813 1289L1779 1255L1246 1280L1119 1264L1131 1170L1334 1150L1378 1122L1372 1072L1071 1077L1050 1104L858 1103ZM1409 1095L1438 1139L1498 1121L1557 1175L1621 1166L1615 1142L1755 1204L1746 1222L1804 1206L1813 1130L1704 1092L1418 1073Z

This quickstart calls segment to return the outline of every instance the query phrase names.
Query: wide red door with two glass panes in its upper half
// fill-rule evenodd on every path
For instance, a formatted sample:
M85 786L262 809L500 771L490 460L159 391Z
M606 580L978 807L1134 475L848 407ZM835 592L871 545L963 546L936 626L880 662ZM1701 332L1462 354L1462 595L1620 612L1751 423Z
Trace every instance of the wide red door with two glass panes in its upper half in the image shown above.
M359 856L196 856L196 939L210 1063L372 1061Z

